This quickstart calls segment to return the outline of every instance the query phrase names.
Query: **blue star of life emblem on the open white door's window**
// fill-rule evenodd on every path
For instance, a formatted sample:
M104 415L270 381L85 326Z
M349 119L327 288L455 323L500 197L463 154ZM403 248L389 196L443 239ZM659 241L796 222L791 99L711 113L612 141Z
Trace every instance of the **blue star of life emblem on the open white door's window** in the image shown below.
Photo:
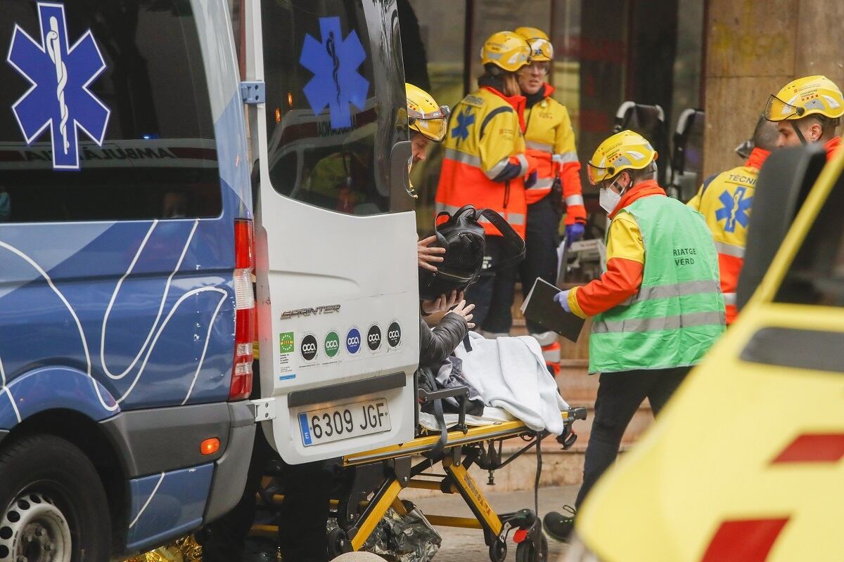
M314 115L328 107L332 129L349 127L349 104L363 110L369 93L369 81L358 72L366 53L356 31L343 39L339 18L320 18L319 27L322 42L306 34L299 57L300 65L314 73L305 85L305 97Z

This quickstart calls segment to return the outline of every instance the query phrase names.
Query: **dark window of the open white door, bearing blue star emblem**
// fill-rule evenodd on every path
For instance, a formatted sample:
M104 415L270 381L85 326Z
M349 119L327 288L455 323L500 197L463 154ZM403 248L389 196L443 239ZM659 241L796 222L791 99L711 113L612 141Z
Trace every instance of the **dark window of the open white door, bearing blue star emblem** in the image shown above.
M385 155L408 137L395 113L405 104L400 56L376 48L373 60L367 23L381 28L383 41L391 40L390 23L377 14L367 22L365 11L381 8L349 0L261 7L273 189L331 211L389 211Z

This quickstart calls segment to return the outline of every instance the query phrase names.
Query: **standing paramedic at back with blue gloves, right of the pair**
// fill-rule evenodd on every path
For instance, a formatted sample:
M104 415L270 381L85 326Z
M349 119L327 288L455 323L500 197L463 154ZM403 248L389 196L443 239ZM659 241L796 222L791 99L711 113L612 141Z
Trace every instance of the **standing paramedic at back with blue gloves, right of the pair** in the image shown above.
M565 240L571 244L583 236L586 207L580 183L575 133L565 105L551 97L554 87L545 82L554 47L539 29L520 27L516 33L531 48L531 63L517 72L525 105L525 144L527 154L537 160L536 183L525 190L527 233L525 260L519 266L522 294L527 297L533 281L542 277L557 279L557 246L560 244L560 218L565 201ZM555 187L555 182L557 185ZM553 188L553 189L552 189ZM560 372L560 343L555 332L527 320L527 331L542 346L551 372Z

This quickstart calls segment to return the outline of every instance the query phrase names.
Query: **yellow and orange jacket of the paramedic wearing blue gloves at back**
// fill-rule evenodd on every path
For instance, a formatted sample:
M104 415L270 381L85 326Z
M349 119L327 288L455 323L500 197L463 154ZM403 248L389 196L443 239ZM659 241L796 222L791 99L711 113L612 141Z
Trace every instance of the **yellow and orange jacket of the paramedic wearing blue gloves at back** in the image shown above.
M586 222L575 131L565 105L551 94L554 94L554 87L545 84L541 101L532 105L528 100L525 107L527 153L537 159L537 181L527 188L525 198L530 205L548 195L559 175L566 206L565 224Z

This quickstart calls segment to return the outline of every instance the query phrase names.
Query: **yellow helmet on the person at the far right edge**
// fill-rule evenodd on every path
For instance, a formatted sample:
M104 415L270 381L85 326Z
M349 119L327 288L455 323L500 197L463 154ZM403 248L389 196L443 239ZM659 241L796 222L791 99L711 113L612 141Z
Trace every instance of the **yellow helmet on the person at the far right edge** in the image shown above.
M765 108L765 118L771 121L803 119L807 115L830 119L844 115L844 96L829 78L806 76L789 82L776 95L771 94Z

